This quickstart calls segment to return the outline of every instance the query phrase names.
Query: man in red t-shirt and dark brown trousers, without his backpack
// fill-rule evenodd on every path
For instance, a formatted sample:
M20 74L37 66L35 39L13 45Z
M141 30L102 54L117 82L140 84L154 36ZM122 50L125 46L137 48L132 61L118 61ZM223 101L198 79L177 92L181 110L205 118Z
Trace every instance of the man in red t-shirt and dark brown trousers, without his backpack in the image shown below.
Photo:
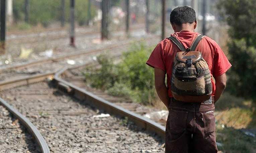
M185 48L190 48L198 36L198 33L194 32L197 26L195 11L187 6L177 7L170 14L170 22L175 32L172 36L176 37ZM214 103L226 87L225 73L231 64L214 40L203 37L195 51L201 52L211 76L215 78L216 83L211 79L212 96L204 102L178 101L173 98L171 92L171 75L173 61L179 51L176 44L164 39L156 46L147 61L147 64L155 70L157 94L169 110L165 132L166 153L217 153Z

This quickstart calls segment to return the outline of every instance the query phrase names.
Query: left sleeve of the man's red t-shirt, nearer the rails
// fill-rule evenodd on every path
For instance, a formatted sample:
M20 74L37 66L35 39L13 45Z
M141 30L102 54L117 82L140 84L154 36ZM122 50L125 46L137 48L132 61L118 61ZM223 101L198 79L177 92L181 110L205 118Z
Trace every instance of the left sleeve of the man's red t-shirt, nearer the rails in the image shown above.
M159 68L166 72L164 60L163 60L163 46L158 44L156 48L151 53L148 61L146 62L149 66L153 68Z

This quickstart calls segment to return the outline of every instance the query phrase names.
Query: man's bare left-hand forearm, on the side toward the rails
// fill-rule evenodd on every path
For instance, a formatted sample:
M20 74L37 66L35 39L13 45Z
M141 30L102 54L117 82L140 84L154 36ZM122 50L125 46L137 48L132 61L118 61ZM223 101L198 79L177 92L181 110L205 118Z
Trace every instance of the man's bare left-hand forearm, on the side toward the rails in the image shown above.
M170 98L168 96L168 90L165 85L165 72L156 67L155 67L155 88L159 98L165 104L167 109L169 109L168 106L169 106Z

